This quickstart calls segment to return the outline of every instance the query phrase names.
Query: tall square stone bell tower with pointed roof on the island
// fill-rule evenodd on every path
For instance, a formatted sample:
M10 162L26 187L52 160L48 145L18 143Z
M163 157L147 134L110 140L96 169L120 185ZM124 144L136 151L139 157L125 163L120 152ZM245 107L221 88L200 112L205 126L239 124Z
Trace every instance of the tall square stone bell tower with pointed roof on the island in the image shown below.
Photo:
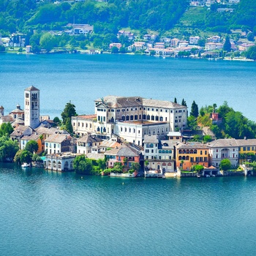
M39 89L30 86L24 91L25 125L33 129L39 126Z

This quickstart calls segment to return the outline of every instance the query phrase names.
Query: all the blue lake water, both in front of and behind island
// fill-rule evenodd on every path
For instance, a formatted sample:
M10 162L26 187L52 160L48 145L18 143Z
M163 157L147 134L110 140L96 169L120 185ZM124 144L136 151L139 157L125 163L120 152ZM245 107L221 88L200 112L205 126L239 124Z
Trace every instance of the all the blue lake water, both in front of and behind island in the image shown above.
M113 55L0 54L0 105L28 86L42 115L108 94L200 106L227 100L256 121L256 63ZM0 255L256 255L255 177L120 179L0 164Z

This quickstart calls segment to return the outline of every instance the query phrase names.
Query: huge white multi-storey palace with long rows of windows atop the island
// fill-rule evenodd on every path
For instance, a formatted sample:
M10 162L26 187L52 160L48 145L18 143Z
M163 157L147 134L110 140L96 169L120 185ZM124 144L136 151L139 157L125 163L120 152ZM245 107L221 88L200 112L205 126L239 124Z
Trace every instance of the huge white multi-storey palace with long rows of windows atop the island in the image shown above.
M75 134L91 132L102 139L115 134L142 146L144 135L167 135L187 125L187 107L174 102L118 96L94 102L94 115L72 117Z

